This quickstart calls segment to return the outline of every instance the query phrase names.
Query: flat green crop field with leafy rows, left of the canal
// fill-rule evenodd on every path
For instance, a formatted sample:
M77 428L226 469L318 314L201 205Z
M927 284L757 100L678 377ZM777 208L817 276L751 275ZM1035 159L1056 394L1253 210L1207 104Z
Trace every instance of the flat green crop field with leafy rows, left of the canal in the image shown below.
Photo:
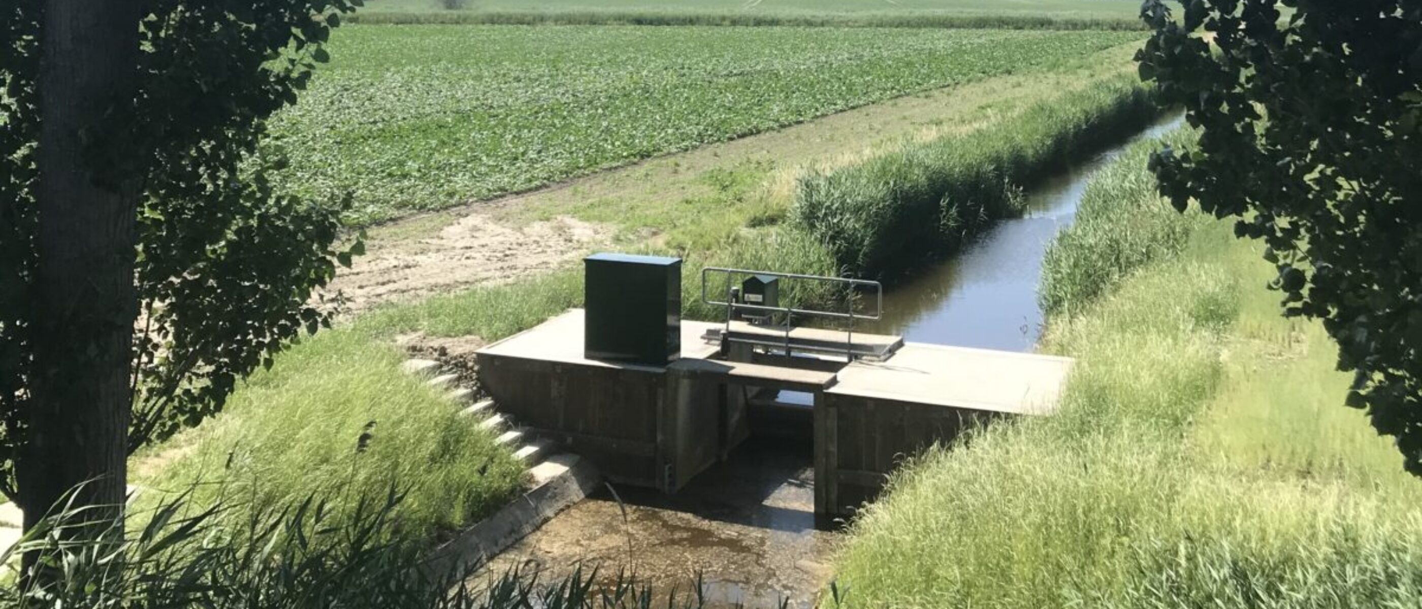
M1048 71L1136 33L351 26L274 121L292 189L350 220L532 189L848 108Z

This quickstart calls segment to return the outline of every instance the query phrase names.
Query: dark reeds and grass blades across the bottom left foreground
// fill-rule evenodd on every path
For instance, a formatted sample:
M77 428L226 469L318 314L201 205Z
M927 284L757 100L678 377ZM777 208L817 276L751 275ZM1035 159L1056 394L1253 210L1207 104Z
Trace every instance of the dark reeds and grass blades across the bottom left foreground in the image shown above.
M104 521L101 535L68 535L91 527L95 507L68 504L28 531L0 561L34 552L57 578L0 586L0 605L24 608L700 608L697 595L653 591L627 574L574 569L565 581L512 571L475 576L479 565L437 571L408 547L391 542L407 495L395 488L361 498L348 521L323 495L246 508L228 495L199 508L186 494L135 514L125 531ZM233 511L250 514L229 518ZM700 589L698 589L700 591Z

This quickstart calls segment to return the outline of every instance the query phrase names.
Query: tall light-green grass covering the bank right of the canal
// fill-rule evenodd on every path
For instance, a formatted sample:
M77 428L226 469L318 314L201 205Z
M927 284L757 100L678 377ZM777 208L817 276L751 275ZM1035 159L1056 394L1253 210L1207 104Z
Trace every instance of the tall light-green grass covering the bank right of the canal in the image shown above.
M1136 149L1048 257L1061 413L897 474L853 525L856 606L1416 606L1422 485L1321 328L1230 227L1169 210Z

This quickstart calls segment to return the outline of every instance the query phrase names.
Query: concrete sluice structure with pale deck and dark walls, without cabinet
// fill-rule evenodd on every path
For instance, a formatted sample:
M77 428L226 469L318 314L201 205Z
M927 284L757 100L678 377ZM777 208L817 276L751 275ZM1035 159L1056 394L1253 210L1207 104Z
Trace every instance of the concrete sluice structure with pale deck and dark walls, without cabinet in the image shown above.
M784 329L732 324L724 332L724 322L695 321L681 322L680 359L648 366L584 358L583 331L583 311L572 309L479 349L479 379L499 410L532 436L583 454L613 481L665 493L752 434L811 427L815 517L825 527L873 500L907 456L981 424L1055 412L1072 368L1068 358L873 334L849 344L843 332L822 329L792 331L796 346L786 355L775 346L776 336L784 345ZM752 406L766 412L757 396L769 390L803 392L808 403L782 409L789 417L752 416Z

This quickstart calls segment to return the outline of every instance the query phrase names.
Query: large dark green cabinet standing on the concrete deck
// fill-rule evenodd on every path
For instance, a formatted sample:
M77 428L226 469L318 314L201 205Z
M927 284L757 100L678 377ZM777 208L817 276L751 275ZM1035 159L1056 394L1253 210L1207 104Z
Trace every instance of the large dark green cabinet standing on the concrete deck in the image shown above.
M681 258L583 258L583 356L663 366L681 356Z

